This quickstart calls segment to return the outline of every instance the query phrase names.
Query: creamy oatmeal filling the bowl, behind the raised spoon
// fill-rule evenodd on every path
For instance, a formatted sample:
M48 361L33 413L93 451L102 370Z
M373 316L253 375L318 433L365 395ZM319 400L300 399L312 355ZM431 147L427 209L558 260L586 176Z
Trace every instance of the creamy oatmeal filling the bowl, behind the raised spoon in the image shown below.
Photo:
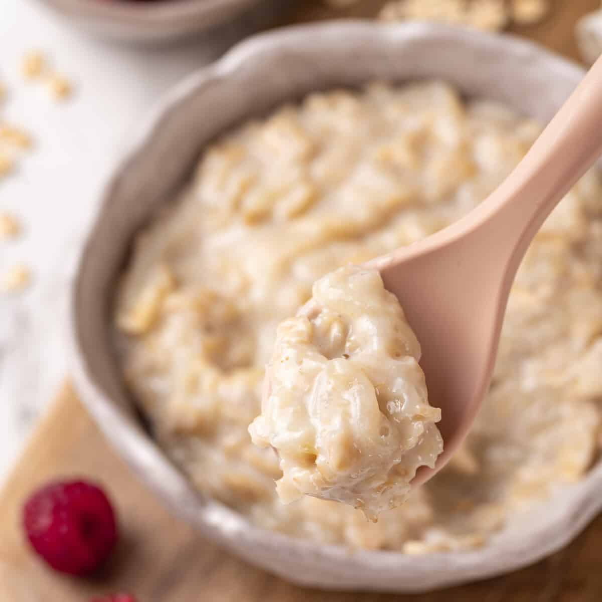
M135 240L116 321L126 380L202 491L293 536L407 553L481 545L579 479L602 399L602 186L595 172L535 238L510 295L491 391L450 465L378 523L335 501L283 504L260 413L277 324L314 281L458 219L538 126L436 82L308 96L210 146Z

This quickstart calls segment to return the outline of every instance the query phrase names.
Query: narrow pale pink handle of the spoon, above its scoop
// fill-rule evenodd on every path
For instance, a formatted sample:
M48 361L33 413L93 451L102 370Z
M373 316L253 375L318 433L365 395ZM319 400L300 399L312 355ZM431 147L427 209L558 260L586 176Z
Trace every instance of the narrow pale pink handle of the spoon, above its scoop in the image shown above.
M485 234L493 226L518 266L545 218L601 154L602 57L514 171L466 216L463 229Z

